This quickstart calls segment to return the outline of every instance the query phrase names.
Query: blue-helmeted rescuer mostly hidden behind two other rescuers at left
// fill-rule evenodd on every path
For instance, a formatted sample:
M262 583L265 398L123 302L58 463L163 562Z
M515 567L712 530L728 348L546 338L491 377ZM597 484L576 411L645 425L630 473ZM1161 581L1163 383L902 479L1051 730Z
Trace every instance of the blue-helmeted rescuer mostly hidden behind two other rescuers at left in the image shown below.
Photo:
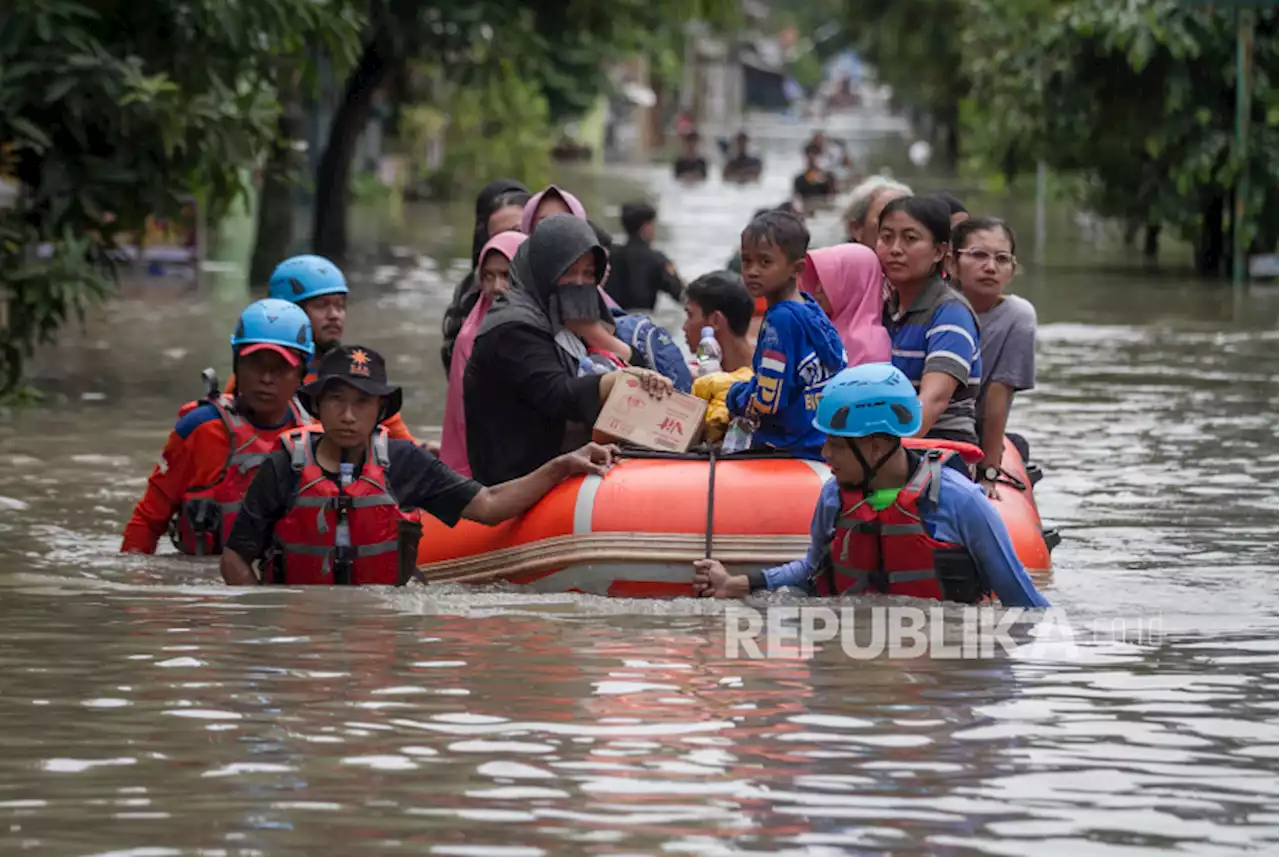
M316 353L307 367L303 382L315 380L315 366L325 354L342 344L342 334L347 326L347 278L342 270L324 256L291 256L271 271L268 283L269 297L288 301L302 307L311 318L311 330L316 336ZM227 391L236 390L236 376L227 382ZM413 439L404 420L396 414L387 420L387 432L397 440ZM433 453L439 452L438 444L425 444Z

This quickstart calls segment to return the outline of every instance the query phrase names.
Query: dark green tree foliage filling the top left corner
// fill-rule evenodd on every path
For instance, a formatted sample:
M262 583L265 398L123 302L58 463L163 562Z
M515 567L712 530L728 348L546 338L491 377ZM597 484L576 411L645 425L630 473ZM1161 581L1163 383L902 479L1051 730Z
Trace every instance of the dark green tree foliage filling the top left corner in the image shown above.
M355 50L352 12L314 0L24 0L0 13L0 145L19 193L0 208L0 375L100 301L118 232L216 219L276 133L280 58ZM41 258L38 246L52 255Z

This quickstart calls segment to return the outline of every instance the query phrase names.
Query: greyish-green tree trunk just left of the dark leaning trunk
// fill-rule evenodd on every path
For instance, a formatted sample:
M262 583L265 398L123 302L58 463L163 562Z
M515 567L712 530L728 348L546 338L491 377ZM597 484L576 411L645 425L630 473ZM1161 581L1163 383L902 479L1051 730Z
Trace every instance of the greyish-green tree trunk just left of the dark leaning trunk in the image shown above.
M293 244L293 177L298 160L293 141L302 136L302 111L296 95L296 91L282 92L284 109L262 168L262 188L257 197L257 237L248 267L250 288L253 289L265 287L271 271Z

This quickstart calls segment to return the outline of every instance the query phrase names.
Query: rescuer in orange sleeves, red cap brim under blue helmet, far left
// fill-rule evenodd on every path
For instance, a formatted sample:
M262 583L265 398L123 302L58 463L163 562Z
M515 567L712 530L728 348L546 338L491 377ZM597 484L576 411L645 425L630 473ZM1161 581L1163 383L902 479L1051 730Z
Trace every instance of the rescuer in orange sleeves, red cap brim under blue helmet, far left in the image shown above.
M170 530L184 554L218 554L241 498L282 434L311 422L293 398L315 353L307 313L266 298L241 313L232 335L239 389L191 402L124 527L122 553L154 554Z

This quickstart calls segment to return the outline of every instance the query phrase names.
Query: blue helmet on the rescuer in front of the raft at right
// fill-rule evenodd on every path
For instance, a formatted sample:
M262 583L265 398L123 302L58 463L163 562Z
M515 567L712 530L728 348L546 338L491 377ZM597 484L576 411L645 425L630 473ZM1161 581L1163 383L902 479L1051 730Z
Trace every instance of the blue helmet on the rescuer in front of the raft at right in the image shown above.
M863 363L827 381L814 428L837 437L895 435L920 430L920 397L892 363Z

